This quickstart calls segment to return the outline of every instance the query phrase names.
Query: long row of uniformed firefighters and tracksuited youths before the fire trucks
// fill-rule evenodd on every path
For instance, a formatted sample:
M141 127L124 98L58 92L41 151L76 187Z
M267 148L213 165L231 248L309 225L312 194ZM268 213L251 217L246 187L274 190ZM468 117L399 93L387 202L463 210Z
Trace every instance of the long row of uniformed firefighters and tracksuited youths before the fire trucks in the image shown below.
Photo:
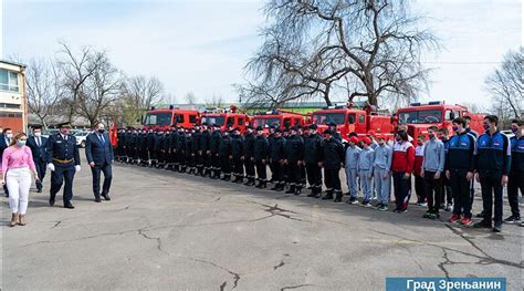
M517 122L517 123L516 123ZM476 138L468 122L453 121L455 135L449 138L446 128L429 127L428 141L421 135L418 146L407 128L400 126L395 141L386 141L373 132L361 141L357 134L348 135L343 143L336 125L332 124L321 135L317 126L295 126L281 131L271 126L269 134L259 126L220 131L220 126L206 123L192 128L172 127L169 131L119 129L115 158L122 163L172 169L212 179L243 183L247 186L301 195L307 184L308 197L340 202L340 168L345 169L349 189L349 204L356 204L361 188L363 206L370 207L376 198L378 210L388 210L391 179L396 212L407 210L411 195L411 176L415 174L419 204L428 206L426 218L439 217L439 208L448 201L453 210L451 222L471 224L473 202L473 177L480 176L484 218L476 227L492 226L494 195L494 231L501 230L502 187L507 183L511 169L513 195L510 197L512 217L510 222L521 222L518 212L518 188L523 190L524 136L523 124L512 126L516 136L510 139L497 129L496 116L486 116L486 133ZM513 165L511 154L514 152ZM266 166L271 179L266 177ZM324 173L322 173L324 169ZM326 187L322 196L323 177ZM499 180L499 183L496 183ZM497 186L499 185L499 186ZM451 194L453 193L453 194ZM450 207L450 206L454 207ZM507 222L507 221L506 221Z

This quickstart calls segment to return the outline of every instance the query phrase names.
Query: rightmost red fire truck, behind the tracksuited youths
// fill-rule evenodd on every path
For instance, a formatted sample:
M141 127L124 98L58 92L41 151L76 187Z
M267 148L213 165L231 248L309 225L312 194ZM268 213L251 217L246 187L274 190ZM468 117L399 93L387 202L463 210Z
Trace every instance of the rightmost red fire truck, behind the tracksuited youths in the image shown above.
M428 127L438 126L439 128L448 128L453 134L452 121L455 117L471 117L470 127L478 132L484 132L482 114L474 114L468 111L468 107L455 104L448 105L441 101L432 101L426 104L411 103L409 107L397 111L396 116L391 117L391 124L408 125L408 134L417 141L420 134L428 134Z

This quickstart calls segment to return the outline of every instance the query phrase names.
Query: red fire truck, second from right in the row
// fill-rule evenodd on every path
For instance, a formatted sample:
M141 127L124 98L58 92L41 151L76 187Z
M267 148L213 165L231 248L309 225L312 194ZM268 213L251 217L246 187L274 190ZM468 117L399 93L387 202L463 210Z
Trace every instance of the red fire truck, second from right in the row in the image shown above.
M318 126L318 132L324 132L328 124L335 123L343 139L348 139L349 133L356 133L359 139L366 137L369 131L386 139L392 138L395 129L391 116L379 113L373 106L365 106L361 110L349 106L326 106L312 114L312 123Z

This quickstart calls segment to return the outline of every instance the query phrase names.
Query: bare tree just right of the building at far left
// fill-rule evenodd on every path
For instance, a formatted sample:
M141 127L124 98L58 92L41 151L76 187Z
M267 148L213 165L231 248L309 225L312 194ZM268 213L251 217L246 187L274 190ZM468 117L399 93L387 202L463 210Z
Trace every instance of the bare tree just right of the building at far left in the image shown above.
M59 100L63 96L63 87L54 64L44 59L32 59L27 70L28 107L38 116L42 126L48 128L51 116Z

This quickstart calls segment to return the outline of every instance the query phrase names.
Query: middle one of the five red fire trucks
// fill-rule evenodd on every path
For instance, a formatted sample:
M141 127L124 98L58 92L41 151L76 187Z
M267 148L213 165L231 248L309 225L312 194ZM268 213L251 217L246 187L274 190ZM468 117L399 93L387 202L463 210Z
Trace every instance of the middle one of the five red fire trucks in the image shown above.
M281 129L285 129L295 125L305 126L310 123L308 115L283 110L259 112L253 116L252 121L253 127L255 128L259 126L268 128L275 125Z

